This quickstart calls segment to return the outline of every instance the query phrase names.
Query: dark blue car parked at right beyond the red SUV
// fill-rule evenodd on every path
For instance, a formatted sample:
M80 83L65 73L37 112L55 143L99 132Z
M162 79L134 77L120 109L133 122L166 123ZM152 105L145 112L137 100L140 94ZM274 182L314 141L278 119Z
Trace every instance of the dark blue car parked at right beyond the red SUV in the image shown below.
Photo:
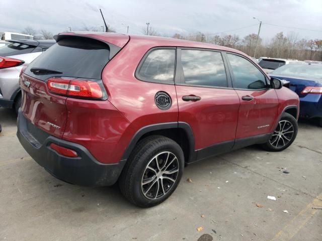
M300 117L318 117L322 127L322 64L288 64L270 76L289 81L300 99Z

